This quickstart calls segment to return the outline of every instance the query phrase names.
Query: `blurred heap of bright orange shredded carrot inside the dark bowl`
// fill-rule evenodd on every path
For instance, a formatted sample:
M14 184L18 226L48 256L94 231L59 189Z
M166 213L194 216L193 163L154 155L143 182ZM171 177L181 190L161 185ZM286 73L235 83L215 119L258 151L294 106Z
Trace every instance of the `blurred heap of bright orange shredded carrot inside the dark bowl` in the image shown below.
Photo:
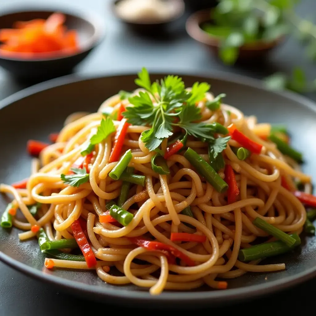
M36 53L74 53L79 51L75 30L63 25L65 15L53 13L47 20L16 21L13 28L0 30L0 54L13 56L24 53L24 57L36 57ZM48 54L49 56L49 54Z

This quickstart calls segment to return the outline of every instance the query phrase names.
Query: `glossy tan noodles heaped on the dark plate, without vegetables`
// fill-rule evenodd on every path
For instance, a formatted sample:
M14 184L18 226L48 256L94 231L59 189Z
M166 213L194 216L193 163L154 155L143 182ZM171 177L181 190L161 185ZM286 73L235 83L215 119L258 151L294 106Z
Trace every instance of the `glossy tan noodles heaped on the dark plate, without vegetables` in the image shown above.
M135 90L135 94L140 90ZM68 117L65 126L55 144L44 149L40 160L34 160L32 175L27 189L15 189L10 185L1 185L1 191L14 196L14 201L27 222L13 220L15 227L25 230L19 234L21 240L35 236L30 230L39 225L46 231L50 240L73 238L71 224L82 216L87 220L89 242L97 261L96 273L106 283L133 283L150 288L151 294L159 294L163 289L189 290L207 284L219 288L222 279L235 278L247 271L266 272L285 269L285 264L260 264L260 260L242 263L238 258L241 248L249 247L258 237L269 238L268 234L252 224L259 216L286 233L300 234L306 220L306 210L301 202L281 186L281 175L293 189L299 179L310 189L311 178L300 172L297 164L283 156L274 143L262 140L258 135L270 131L269 124L257 124L255 117L244 117L233 106L222 104L215 112L205 106L206 100L213 95L206 94L197 105L201 109L204 122L219 122L227 127L234 123L237 128L253 141L262 144L260 155L252 154L240 161L231 149L239 147L230 139L223 152L226 164L233 167L240 200L227 205L226 193L218 193L199 174L192 170L189 161L183 155L172 155L167 164L170 175L159 175L151 168L151 157L140 140L140 135L149 127L132 126L127 130L122 153L131 149L133 158L129 164L135 173L146 176L144 187L131 185L129 199L123 209L134 213L129 225L119 228L111 223L101 224L98 215L106 211L106 202L120 194L122 181L114 181L108 173L117 162L108 163L113 137L95 147L95 155L90 167L89 182L72 187L61 181L60 174L66 174L71 165L80 156L81 144L95 134L102 119L101 110L105 106L118 108L123 102L119 95L106 100L97 113L75 113ZM114 121L114 125L119 125ZM194 149L208 161L207 144L189 137L187 147ZM162 143L162 149L167 142ZM224 178L223 170L219 172ZM40 202L39 217L34 219L27 205ZM190 205L195 218L179 214ZM180 224L175 225L178 217ZM188 227L189 223L195 228ZM172 242L171 232L204 234L206 242ZM196 266L185 266L182 262L168 264L167 258L159 252L148 252L133 245L126 237L142 236L148 232L156 240L184 252L193 259ZM140 259L134 260L135 258ZM52 259L55 260L55 259ZM55 267L88 269L85 262L55 260ZM109 268L111 270L109 271ZM113 273L119 270L122 275Z

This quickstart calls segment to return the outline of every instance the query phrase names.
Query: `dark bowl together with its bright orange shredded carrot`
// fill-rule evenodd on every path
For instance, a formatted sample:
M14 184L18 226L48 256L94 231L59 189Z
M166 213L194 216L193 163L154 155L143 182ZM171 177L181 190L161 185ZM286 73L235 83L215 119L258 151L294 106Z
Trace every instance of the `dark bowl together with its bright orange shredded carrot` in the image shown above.
M0 14L0 66L21 79L72 72L102 40L96 16L55 10Z

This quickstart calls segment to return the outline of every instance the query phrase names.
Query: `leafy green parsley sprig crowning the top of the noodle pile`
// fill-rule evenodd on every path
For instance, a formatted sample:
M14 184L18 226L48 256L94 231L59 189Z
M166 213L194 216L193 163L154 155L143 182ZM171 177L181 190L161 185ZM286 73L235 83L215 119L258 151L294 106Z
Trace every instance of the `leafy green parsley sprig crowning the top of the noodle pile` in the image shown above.
M150 151L173 135L174 126L184 129L188 135L214 141L214 126L198 122L201 111L196 107L209 91L208 83L195 82L191 91L185 89L178 76L169 75L160 82L151 83L146 68L138 73L135 83L146 91L129 97L131 106L126 107L123 115L132 125L151 126L141 138Z

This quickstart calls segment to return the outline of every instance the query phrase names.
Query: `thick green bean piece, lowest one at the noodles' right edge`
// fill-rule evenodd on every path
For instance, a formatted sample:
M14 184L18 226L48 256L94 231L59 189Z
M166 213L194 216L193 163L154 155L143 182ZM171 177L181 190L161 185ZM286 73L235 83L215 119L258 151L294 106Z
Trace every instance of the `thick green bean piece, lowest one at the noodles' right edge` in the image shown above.
M263 244L241 249L238 254L238 259L240 261L251 261L289 252L291 249L301 244L301 239L297 234L291 234L289 236L295 240L295 244L292 247L287 246L281 240L265 242Z

